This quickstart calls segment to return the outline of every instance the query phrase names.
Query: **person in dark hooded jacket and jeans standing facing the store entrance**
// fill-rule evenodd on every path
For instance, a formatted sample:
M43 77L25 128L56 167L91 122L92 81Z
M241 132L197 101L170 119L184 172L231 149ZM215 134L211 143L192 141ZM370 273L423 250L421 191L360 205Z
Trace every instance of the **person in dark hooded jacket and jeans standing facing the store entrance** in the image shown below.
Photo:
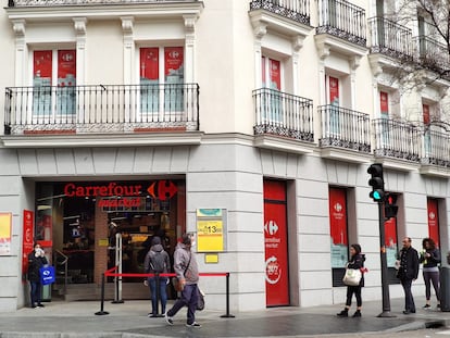
M158 316L158 300L161 300L162 312L165 313L165 305L167 304L167 277L160 277L159 274L166 274L170 271L171 259L168 253L161 245L160 237L153 237L152 246L146 255L143 263L147 274L155 274L153 277L148 277L148 285L151 293L151 312L149 317Z

